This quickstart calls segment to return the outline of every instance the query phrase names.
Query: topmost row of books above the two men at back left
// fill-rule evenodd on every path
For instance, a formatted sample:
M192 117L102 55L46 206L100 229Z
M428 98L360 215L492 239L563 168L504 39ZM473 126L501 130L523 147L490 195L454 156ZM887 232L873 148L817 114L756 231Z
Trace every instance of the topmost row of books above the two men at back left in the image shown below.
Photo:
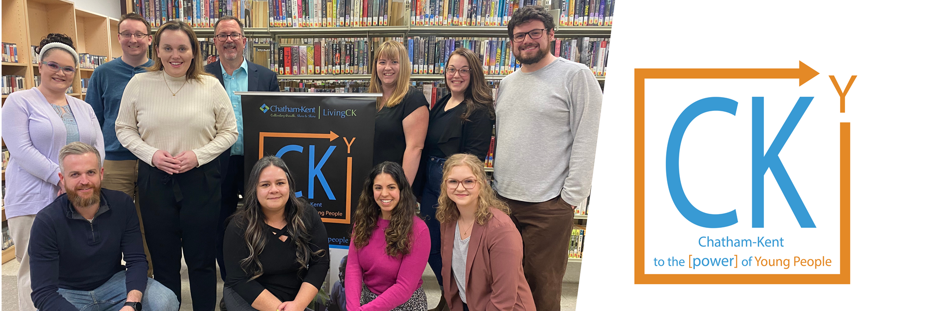
M186 21L214 27L234 16L246 27L388 26L390 0L133 0L133 9L154 27Z

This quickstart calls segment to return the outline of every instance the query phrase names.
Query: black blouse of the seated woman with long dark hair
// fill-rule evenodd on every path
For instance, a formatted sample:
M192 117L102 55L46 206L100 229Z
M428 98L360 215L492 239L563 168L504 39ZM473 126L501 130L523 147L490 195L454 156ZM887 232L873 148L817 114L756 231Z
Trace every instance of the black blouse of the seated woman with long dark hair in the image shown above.
M327 231L324 222L317 210L305 205L304 225L311 233L308 247L312 252L323 249L323 256L312 255L312 263L308 269L302 269L295 258L295 243L291 237L283 242L279 239L281 234L288 235L287 230L293 225L286 224L282 230L272 228L263 223L266 234L266 246L259 253L259 262L262 263L262 276L250 280L240 262L249 256L244 239L245 224L238 219L230 221L227 232L224 234L224 262L227 266L226 286L232 288L250 304L262 293L269 290L282 302L295 300L301 289L301 283L308 283L321 290L327 269L330 268L330 255L327 249Z

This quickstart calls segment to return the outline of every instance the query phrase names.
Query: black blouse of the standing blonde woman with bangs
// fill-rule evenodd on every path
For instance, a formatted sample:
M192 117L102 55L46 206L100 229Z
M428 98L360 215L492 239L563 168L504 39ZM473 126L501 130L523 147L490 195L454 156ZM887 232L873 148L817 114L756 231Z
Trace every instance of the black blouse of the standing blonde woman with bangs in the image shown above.
M402 120L422 106L427 106L425 94L410 87L401 103L391 107L385 106L376 113L376 134L373 137L375 141L372 147L373 165L386 161L402 163L406 147Z

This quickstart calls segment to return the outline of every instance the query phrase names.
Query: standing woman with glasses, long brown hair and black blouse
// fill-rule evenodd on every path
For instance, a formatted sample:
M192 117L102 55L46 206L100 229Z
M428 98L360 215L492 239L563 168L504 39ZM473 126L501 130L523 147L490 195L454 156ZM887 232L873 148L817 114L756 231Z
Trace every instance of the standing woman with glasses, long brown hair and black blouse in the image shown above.
M431 108L425 137L420 179L424 180L421 215L431 233L431 254L427 262L443 287L440 274L440 223L435 218L441 194L440 177L446 158L469 153L485 159L493 136L493 94L482 74L480 58L469 49L454 49L444 70L451 93ZM444 300L439 307L443 308Z

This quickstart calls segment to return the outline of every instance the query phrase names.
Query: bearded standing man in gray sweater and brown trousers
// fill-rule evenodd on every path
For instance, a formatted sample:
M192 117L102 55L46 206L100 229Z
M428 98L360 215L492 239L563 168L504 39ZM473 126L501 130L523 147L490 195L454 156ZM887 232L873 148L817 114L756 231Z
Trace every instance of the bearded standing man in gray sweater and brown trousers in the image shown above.
M515 11L508 36L522 68L499 86L494 189L522 233L536 309L556 311L574 208L590 195L603 91L590 68L551 54L543 7Z

